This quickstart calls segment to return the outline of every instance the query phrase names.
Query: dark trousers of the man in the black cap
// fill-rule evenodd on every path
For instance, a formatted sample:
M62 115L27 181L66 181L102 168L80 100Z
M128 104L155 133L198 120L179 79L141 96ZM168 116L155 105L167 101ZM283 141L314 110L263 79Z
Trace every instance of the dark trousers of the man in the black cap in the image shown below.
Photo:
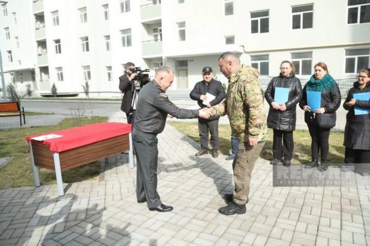
M203 150L208 150L208 130L211 134L211 139L209 140L213 150L218 150L219 138L218 138L218 120L207 120L198 119L198 129L199 136L201 137L201 148Z

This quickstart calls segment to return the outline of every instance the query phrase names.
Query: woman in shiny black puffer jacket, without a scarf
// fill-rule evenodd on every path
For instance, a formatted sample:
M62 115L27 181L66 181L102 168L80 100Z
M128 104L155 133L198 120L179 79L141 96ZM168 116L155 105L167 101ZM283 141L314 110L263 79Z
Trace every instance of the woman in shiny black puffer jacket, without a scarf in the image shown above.
M283 165L290 166L293 155L293 131L296 129L296 105L302 98L302 85L294 75L295 66L290 61L280 64L280 75L272 78L265 92L265 98L270 105L267 117L267 126L273 129L273 160L271 165L277 164L284 157ZM276 88L286 88L288 97L284 102L275 102ZM279 99L280 100L280 99ZM283 144L282 144L283 142Z

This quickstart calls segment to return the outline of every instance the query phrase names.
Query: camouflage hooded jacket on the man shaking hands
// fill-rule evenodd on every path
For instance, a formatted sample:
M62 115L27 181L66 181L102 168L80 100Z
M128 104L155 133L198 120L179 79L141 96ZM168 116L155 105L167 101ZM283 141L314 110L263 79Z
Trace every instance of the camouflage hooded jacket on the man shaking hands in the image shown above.
M228 77L226 100L211 108L212 116L229 116L231 135L243 142L248 142L249 137L265 141L267 136L264 98L258 77L258 69L243 64Z

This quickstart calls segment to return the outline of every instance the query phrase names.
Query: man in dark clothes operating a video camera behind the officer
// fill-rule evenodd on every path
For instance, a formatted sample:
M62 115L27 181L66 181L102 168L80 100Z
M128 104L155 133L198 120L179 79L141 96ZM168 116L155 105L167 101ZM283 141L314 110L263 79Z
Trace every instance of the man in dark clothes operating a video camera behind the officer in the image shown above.
M131 82L134 81L137 74L131 70L135 71L135 64L132 62L127 62L125 64L125 74L120 77L120 90L122 93L124 93L121 110L126 113L127 123L131 124L132 127L135 118L136 102L132 102L135 93L135 86L134 83ZM135 99L137 100L137 96Z

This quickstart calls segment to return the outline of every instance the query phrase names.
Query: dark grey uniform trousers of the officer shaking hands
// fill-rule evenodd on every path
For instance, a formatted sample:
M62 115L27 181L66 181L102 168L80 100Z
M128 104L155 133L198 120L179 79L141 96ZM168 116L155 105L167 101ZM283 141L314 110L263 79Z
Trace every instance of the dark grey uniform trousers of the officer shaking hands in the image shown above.
M136 150L136 197L147 199L149 208L161 205L157 192L158 139L155 135L138 133L135 129L132 140Z

